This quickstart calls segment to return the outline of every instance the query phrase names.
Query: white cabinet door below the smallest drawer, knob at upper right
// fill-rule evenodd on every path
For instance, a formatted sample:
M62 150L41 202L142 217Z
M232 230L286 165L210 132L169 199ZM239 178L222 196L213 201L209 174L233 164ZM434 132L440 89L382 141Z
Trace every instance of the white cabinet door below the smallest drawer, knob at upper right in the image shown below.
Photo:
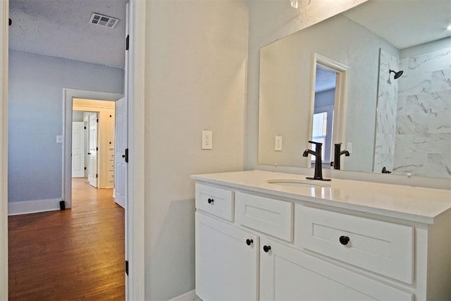
M196 294L202 300L258 299L259 238L196 212Z

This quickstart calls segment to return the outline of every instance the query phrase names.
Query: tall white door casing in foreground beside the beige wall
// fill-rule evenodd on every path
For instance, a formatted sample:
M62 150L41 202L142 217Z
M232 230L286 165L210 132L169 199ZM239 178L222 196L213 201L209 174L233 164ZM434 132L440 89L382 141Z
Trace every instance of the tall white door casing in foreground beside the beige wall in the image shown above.
M127 248L128 276L125 298L145 300L144 288L144 90L146 46L146 0L130 0L128 54L128 183Z

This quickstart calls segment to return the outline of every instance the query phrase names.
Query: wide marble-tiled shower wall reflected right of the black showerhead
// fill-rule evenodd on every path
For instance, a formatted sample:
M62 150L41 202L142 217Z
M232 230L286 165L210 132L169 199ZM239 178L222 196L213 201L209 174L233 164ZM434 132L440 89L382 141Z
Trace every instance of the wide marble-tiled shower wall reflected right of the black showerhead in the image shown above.
M400 60L393 170L451 178L451 47Z

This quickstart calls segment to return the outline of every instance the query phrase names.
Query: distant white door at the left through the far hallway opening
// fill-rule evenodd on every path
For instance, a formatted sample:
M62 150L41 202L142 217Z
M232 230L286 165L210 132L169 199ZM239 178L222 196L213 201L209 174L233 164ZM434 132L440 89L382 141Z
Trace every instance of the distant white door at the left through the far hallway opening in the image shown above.
M72 123L72 178L85 178L85 124Z

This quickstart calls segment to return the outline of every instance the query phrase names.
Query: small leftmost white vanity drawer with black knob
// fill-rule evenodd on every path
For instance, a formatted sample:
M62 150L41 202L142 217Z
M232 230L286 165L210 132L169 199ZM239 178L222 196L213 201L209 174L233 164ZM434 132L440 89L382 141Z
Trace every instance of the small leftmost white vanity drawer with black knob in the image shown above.
M196 183L196 208L233 221L233 191Z

